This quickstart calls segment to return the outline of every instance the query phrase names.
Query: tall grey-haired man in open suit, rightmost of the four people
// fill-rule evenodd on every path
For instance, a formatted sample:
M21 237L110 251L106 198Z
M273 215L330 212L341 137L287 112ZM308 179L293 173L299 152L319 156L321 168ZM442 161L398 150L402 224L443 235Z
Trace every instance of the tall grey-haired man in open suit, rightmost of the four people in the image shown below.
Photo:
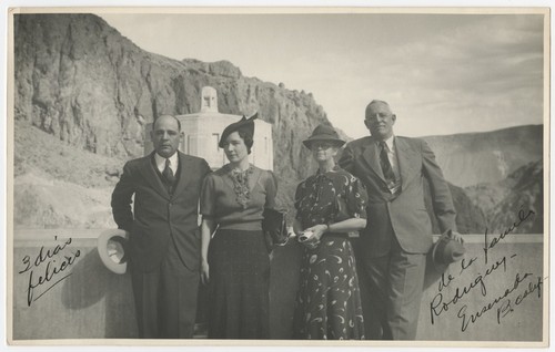
M369 194L367 226L355 246L366 334L414 340L426 253L432 247L424 178L442 231L455 230L456 214L427 144L393 135L396 116L386 102L372 101L365 115L371 136L351 142L339 164L359 177ZM456 232L454 238L462 240Z

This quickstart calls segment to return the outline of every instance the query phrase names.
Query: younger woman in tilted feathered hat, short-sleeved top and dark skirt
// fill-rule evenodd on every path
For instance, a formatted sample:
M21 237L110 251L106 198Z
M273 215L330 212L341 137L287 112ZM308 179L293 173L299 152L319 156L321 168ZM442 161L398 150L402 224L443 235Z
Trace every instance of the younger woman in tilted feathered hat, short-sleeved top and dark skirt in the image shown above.
M201 193L201 278L209 283L212 339L270 338L270 258L262 213L274 207L276 185L271 172L249 163L254 118L225 127L220 147L230 163L206 176Z

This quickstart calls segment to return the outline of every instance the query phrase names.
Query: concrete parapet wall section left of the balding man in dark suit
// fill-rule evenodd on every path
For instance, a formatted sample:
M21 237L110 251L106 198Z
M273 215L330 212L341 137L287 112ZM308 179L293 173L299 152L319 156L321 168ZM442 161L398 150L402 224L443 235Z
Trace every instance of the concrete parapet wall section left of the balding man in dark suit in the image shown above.
M53 252L57 245L61 246L68 240L65 234L41 230L38 234L40 237L37 236L34 239L28 237L24 240L14 240L12 291L14 340L137 337L131 277L112 273L100 261L97 238L87 238L98 236L100 232L84 231L79 234L84 235L82 238L71 237L70 245L39 266L34 266L34 261L40 248L44 246L42 257L48 257L48 250ZM59 236L58 240L53 239L54 235ZM73 258L78 252L79 257L65 270L53 275L50 281L33 289L34 301L31 300L29 306L31 272L31 280L36 284L40 282L40 277L47 277L49 261L51 261L49 273L52 273L54 268L60 268L65 256ZM32 268L20 273L27 268L23 262L26 256L29 256ZM54 284L70 272L67 279Z

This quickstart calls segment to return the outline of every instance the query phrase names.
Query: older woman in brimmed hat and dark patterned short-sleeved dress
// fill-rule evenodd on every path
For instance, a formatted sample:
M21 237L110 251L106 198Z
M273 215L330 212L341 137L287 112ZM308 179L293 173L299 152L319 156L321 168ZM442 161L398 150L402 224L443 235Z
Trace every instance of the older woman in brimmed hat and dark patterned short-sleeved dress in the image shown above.
M364 339L359 279L349 232L366 226L367 195L362 183L335 165L345 143L335 130L317 126L303 142L319 164L296 189L293 229L303 241L295 339Z

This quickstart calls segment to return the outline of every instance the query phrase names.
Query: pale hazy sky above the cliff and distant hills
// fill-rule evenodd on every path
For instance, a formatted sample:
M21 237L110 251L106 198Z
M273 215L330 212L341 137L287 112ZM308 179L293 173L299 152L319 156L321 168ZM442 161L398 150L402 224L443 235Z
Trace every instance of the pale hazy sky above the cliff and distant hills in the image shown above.
M243 75L312 93L334 126L367 135L387 101L395 134L483 132L543 122L539 14L101 13L140 48L228 60Z

